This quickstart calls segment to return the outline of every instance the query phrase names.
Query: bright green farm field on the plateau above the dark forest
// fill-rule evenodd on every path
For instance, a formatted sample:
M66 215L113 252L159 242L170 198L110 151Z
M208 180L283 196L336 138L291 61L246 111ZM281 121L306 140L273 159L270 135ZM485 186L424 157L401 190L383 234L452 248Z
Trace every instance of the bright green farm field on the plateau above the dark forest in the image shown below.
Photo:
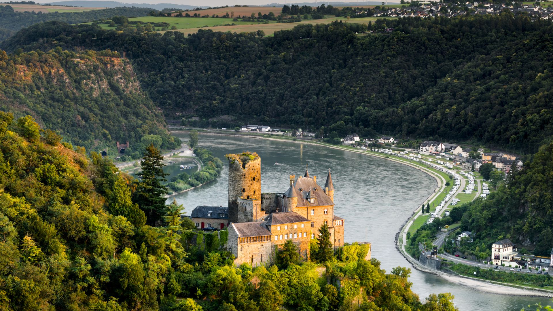
M233 22L232 18L205 18L205 17L158 17L158 16L145 16L145 17L133 17L129 18L129 22L133 20L139 20L142 22L142 24L145 23L169 23L169 28L172 26L175 26L176 29L206 29L201 28L205 25L211 27L215 27L215 25L225 25L225 24L237 24L237 25L251 25L255 24L260 26L262 23L259 22ZM116 27L109 27L109 20L106 22L102 22L103 24L100 24L100 27L103 29L115 29ZM269 23L275 23L273 20L269 20ZM85 23L85 24L91 24L91 23ZM266 25L266 24L265 24ZM221 27L236 27L236 26L217 26L215 28L221 28ZM155 27L156 29L159 27ZM255 29L257 30L257 29ZM197 31L197 30L196 30Z

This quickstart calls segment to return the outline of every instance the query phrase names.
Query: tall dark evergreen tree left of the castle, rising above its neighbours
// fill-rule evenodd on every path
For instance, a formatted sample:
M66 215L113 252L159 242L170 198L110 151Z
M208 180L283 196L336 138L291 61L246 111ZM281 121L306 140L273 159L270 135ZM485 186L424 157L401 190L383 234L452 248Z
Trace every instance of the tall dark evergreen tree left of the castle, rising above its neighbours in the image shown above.
M167 189L161 182L165 182L165 174L163 172L163 156L159 153L159 149L150 144L146 148L146 154L140 162L142 172L138 176L142 178L137 183L137 190L134 193L134 202L138 203L140 209L146 214L147 224L159 226L161 217L166 215L166 205L164 195L167 194Z

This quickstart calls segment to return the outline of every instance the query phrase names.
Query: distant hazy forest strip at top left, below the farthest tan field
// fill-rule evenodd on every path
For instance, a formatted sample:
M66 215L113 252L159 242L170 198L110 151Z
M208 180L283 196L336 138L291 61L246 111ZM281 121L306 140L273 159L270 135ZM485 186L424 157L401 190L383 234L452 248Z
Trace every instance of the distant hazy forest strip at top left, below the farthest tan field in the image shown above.
M71 13L42 13L42 12L14 12L11 6L0 6L0 34L2 29L19 30L30 25L58 20L69 24L92 22L94 20L109 19L115 15L126 17L141 17L152 12L149 8L121 7L113 9L91 10L87 12ZM0 41L3 40L0 35Z

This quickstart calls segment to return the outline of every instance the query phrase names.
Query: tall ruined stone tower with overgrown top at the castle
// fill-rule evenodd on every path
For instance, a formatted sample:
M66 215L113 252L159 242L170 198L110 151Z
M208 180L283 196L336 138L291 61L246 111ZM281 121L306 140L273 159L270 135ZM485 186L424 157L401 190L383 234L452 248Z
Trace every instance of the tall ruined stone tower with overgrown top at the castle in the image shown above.
M257 153L227 154L228 221L261 221L261 158Z

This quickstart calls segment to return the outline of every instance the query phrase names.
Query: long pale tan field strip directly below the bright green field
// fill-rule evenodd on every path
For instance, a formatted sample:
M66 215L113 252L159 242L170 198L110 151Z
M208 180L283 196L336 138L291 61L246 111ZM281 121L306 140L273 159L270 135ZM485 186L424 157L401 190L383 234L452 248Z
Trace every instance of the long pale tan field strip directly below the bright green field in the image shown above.
M205 18L204 18L205 19ZM213 18L216 19L216 18ZM298 23L270 23L270 24L252 24L249 23L247 25L236 25L236 26L218 26L218 27L204 27L204 28L180 28L178 31L187 34L196 33L199 29L211 29L214 32L237 32L237 33L244 33L244 32L255 32L258 29L263 30L265 32L265 35L272 36L274 32L278 30L284 30L284 29L292 29L297 25L301 24L330 24L335 20L342 20L346 23L368 23L369 20L372 20L373 22L377 20L377 17L364 17L364 18L351 18L347 19L345 17L331 17L331 18L324 18L324 19L304 19L301 22ZM232 20L232 19L227 19ZM233 22L228 22L233 23ZM237 22L234 22L235 24ZM221 23L221 24L227 24L227 23ZM167 30L170 31L170 30ZM163 32L161 32L163 33Z

